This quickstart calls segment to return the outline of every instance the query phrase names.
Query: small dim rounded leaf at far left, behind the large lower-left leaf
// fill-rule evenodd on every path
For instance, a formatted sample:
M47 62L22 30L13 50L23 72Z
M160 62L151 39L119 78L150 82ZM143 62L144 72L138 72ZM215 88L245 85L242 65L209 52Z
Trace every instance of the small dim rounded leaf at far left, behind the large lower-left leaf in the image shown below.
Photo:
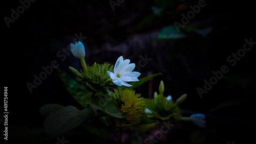
M39 108L39 112L41 113L42 116L48 116L51 112L54 112L60 108L62 108L62 105L59 104L46 104L44 106L41 106Z

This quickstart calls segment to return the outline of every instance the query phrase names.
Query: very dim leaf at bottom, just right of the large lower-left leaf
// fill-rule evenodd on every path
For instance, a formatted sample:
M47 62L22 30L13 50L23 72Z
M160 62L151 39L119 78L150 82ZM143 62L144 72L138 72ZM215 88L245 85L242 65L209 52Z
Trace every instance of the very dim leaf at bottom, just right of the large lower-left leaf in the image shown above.
M89 123L83 123L81 126L87 129L89 132L98 135L102 140L107 140L110 136L110 130L102 127L96 127Z

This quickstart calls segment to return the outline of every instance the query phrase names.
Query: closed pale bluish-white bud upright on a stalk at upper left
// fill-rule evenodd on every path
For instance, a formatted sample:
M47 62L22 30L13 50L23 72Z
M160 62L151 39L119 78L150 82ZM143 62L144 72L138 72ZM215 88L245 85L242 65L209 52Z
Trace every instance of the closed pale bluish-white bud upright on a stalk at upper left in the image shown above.
M86 56L86 51L81 41L76 42L75 44L70 43L70 49L72 54L77 58L84 58Z

